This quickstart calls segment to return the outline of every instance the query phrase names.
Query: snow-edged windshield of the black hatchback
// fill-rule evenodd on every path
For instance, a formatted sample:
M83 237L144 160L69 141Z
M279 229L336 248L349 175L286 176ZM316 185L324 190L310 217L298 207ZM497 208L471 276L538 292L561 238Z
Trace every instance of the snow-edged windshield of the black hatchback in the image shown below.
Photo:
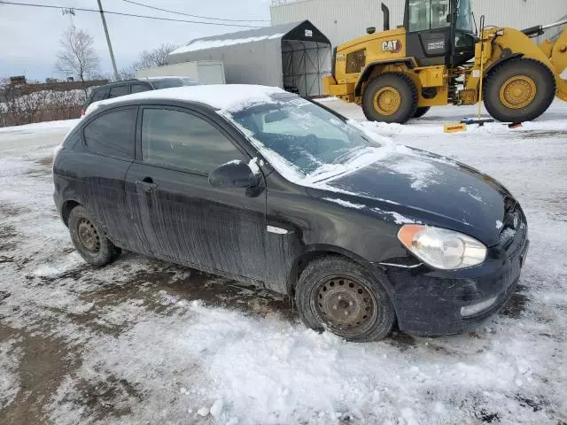
M301 177L343 173L355 158L372 155L381 146L358 128L301 97L256 104L230 116L251 133L252 141L261 143L256 146L260 151L276 152Z

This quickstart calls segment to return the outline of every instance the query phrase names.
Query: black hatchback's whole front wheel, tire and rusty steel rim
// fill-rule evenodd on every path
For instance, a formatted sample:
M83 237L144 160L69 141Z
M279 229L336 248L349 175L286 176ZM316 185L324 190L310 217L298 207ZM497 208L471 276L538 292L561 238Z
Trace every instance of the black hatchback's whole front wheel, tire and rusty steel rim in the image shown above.
M327 329L347 341L383 339L396 320L392 301L377 278L342 257L311 261L299 277L295 299L307 328Z

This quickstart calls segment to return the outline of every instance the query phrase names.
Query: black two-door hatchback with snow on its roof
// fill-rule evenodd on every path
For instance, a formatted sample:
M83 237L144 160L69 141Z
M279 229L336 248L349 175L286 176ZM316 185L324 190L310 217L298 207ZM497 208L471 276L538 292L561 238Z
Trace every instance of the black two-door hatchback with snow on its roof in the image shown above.
M371 341L473 328L514 290L524 213L491 177L394 145L281 89L103 102L54 160L77 251L120 249L295 298L310 328Z

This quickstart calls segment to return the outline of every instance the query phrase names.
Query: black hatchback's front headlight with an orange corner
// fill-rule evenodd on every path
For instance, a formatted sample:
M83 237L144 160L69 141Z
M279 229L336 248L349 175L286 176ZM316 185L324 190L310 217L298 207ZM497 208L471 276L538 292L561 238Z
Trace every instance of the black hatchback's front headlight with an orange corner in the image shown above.
M443 270L476 266L486 258L484 243L447 228L407 224L398 239L418 259Z

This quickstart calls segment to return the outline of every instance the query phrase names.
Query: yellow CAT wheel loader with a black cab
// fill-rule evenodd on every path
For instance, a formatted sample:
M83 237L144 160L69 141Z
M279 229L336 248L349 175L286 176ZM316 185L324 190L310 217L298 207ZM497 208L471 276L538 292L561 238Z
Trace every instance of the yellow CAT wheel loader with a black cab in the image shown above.
M368 28L339 45L322 81L325 94L361 104L369 120L403 123L431 106L484 100L496 120L522 122L546 112L555 96L567 101L567 29L555 42L530 39L567 20L478 32L470 0L407 0L404 25L391 30L382 10L384 32Z

